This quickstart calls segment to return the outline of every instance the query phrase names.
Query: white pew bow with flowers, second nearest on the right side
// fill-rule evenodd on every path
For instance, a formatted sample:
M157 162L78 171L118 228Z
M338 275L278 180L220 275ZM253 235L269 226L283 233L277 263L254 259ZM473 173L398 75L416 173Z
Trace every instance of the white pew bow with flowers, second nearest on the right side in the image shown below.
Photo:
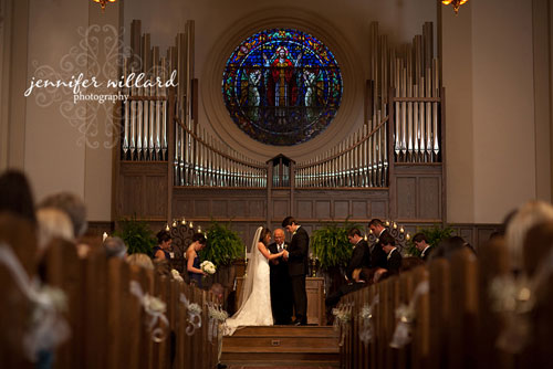
M422 295L428 294L430 284L428 281L420 282L415 288L409 304L401 304L396 308L397 325L389 342L392 348L401 348L411 341L411 330L417 315L418 299Z

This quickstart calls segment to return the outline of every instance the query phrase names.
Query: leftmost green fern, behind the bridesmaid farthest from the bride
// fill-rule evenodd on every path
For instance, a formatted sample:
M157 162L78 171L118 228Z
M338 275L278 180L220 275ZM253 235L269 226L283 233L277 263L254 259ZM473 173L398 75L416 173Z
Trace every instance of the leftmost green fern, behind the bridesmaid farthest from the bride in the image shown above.
M157 244L154 232L146 222L136 220L136 217L119 221L119 230L114 232L128 247L128 254L143 253L152 256L152 250Z

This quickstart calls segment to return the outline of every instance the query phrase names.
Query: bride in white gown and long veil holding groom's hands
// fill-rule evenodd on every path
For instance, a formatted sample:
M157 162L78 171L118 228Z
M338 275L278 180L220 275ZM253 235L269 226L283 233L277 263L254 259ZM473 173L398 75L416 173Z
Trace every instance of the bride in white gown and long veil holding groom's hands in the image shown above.
M271 291L269 288L269 261L282 256L284 251L271 254L267 245L271 231L258 228L251 246L251 256L242 285L241 304L238 312L223 325L226 336L231 336L238 327L272 326Z

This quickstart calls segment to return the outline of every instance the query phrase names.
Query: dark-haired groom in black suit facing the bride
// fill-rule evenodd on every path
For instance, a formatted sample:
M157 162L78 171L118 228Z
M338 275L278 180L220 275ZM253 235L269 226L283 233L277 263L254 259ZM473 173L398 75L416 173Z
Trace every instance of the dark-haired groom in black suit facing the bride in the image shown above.
M282 221L282 226L292 234L292 242L284 259L288 260L288 270L292 282L292 296L294 301L296 326L307 325L307 294L305 293L305 276L309 272L307 252L310 236L307 232L296 223L292 217Z

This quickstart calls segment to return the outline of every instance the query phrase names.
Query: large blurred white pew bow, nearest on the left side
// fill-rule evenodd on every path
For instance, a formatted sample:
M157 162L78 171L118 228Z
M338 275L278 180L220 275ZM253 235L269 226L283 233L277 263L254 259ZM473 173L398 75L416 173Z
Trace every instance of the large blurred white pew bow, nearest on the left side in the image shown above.
M0 264L6 266L14 285L33 306L22 347L27 358L34 362L41 351L54 350L71 335L71 328L62 315L67 309L65 293L60 288L41 286L36 280L31 280L13 250L6 244L0 244Z

